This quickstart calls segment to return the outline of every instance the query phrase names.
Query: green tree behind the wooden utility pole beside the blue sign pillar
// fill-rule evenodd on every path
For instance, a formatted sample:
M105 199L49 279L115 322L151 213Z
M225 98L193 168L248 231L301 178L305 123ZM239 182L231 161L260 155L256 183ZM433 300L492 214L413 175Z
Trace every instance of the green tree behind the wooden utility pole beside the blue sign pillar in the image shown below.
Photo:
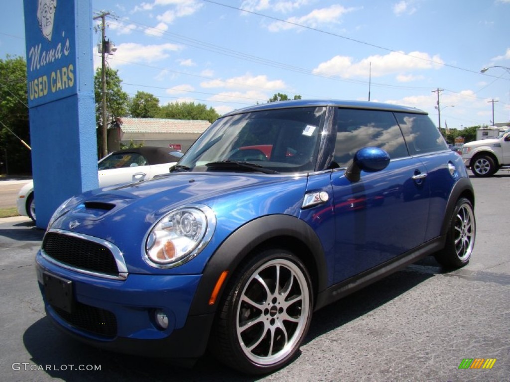
M114 121L117 117L126 117L129 107L129 96L122 91L122 80L118 75L118 70L106 67L106 115L107 124ZM100 146L101 126L103 125L103 81L101 68L97 68L94 75L94 95L96 106L97 143ZM101 152L99 150L98 152Z

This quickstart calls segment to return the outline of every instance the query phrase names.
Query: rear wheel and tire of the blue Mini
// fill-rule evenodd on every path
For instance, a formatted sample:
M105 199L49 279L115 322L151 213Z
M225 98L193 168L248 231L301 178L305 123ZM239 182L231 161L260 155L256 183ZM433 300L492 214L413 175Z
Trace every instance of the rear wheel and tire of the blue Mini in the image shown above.
M468 199L461 198L457 201L450 219L445 247L436 253L436 260L448 268L466 265L473 252L475 236L473 205Z

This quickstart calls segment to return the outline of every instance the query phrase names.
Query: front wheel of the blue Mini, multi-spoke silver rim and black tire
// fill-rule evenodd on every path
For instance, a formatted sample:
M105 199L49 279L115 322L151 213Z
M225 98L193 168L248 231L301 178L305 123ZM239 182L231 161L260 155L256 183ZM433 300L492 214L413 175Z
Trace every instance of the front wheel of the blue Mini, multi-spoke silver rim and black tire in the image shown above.
M225 290L212 348L223 363L250 374L286 365L308 332L313 310L311 280L292 253L258 253Z

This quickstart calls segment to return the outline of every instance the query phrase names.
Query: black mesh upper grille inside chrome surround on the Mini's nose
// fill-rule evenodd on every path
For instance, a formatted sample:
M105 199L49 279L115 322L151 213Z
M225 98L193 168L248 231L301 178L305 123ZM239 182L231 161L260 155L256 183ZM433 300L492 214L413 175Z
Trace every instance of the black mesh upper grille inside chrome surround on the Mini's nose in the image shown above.
M44 236L42 249L49 257L75 268L112 276L119 274L112 252L94 241L48 232Z

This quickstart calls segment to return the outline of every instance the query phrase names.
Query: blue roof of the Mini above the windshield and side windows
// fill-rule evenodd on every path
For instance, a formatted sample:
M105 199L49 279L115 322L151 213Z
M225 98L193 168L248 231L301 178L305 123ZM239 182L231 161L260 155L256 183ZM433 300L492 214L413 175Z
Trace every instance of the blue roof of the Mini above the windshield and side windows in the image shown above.
M247 113L247 112L257 112L262 110L271 110L277 108L290 108L290 107L317 107L317 106L334 106L334 107L346 107L346 108L363 108L367 110L385 110L392 112L405 112L405 113L415 113L415 114L428 114L418 108L409 107L409 106L401 106L394 105L391 103L382 103L382 102L371 102L371 101L347 101L347 100L335 100L335 99L297 99L290 101L278 101L278 102L268 102L261 105L253 105L248 107L243 107L238 110L234 110L230 113L226 113L222 115L222 117Z

